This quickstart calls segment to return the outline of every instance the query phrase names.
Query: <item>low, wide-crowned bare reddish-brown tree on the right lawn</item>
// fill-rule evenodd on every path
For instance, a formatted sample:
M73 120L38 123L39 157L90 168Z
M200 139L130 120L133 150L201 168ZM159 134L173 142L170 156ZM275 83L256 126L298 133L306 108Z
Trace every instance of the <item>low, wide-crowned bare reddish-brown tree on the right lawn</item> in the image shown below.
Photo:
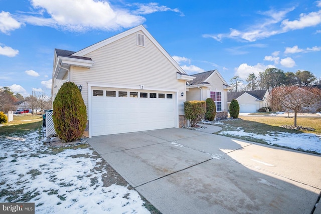
M294 112L294 126L298 112L311 111L317 108L321 100L321 90L314 87L300 88L297 86L277 87L271 91L272 109L285 109Z

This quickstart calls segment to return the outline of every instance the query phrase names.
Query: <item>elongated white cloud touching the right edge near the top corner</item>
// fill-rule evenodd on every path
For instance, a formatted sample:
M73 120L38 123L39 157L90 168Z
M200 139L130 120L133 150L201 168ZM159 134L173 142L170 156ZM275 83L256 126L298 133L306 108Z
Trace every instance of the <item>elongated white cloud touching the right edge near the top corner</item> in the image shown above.
M283 30L296 30L306 27L316 26L321 23L321 10L318 12L311 12L309 14L300 14L298 20L289 21L288 19L282 21Z

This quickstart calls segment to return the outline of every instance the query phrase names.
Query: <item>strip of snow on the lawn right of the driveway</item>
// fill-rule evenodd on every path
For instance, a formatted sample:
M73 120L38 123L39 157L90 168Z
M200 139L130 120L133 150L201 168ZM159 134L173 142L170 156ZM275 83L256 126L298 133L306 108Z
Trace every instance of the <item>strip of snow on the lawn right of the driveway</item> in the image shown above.
M219 134L252 137L256 139L262 139L270 145L287 146L293 149L302 149L304 151L315 151L321 153L320 134L268 132L268 134L260 135L245 132L240 127L237 127L234 131L222 131Z

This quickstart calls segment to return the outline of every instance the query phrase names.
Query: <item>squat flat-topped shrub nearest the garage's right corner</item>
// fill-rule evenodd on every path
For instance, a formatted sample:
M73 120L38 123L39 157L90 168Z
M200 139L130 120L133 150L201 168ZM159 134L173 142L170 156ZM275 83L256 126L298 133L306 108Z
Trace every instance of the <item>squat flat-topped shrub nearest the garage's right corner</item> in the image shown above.
M195 127L204 118L206 103L205 101L186 101L184 111L186 119L190 121L192 127Z

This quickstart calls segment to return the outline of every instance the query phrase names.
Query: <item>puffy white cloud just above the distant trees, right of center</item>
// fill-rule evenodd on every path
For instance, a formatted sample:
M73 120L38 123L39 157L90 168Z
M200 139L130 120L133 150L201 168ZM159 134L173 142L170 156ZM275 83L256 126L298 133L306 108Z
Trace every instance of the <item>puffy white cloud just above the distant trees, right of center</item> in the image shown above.
M239 67L234 68L235 76L239 76L241 79L245 80L248 78L249 74L254 73L256 76L265 71L267 68L274 68L273 65L263 65L258 63L255 66L248 65L246 63L241 64Z

